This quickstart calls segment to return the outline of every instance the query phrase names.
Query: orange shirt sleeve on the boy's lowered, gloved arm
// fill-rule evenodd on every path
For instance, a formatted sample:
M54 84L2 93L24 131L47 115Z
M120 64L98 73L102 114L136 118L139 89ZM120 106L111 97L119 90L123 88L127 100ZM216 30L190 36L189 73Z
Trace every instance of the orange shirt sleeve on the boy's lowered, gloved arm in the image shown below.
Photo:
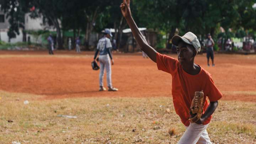
M205 90L206 96L208 96L210 102L218 101L223 96L217 86L214 84L212 76L209 76Z

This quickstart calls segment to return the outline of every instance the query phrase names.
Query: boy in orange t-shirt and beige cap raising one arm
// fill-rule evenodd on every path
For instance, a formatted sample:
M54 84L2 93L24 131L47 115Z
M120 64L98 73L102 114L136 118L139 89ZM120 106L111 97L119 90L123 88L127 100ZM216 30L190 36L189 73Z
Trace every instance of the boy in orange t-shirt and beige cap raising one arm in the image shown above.
M218 100L222 97L221 92L214 85L212 76L201 66L194 63L194 57L201 49L201 45L192 32L184 36L174 36L172 43L177 46L178 59L162 55L149 46L142 33L134 22L130 1L123 0L120 5L123 16L132 30L133 36L137 40L141 49L153 60L159 70L172 75L172 97L174 108L181 122L187 127L182 135L179 144L211 144L206 131L212 114L218 106ZM196 123L190 123L190 106L195 91L204 92L204 96L209 98L210 103L204 97L203 114Z

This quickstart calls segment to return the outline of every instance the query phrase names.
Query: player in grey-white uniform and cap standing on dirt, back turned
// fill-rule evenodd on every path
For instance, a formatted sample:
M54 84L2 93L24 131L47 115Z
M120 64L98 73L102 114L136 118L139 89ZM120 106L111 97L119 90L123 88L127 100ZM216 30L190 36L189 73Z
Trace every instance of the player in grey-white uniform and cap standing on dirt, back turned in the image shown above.
M98 58L98 61L100 62L100 91L105 91L105 87L103 87L103 76L104 76L104 69L106 69L107 72L107 84L108 84L108 91L118 91L118 89L114 88L112 86L111 82L111 63L114 64L112 55L111 55L111 42L110 38L112 37L111 31L109 29L105 29L104 36L98 41L97 50L94 55L94 61L98 55L98 52L100 52L100 56Z

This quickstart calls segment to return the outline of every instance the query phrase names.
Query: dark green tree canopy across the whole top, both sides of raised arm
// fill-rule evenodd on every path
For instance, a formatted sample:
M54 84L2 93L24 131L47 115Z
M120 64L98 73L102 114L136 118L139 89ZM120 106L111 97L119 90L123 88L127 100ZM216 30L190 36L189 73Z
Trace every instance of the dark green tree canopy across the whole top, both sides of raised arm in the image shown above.
M73 30L74 37L85 33L85 46L89 46L93 31L100 32L105 27L114 28L120 39L122 30L127 28L119 5L122 0L1 0L1 10L9 17L10 38L19 34L24 27L24 15L33 12L43 16L49 25L57 30L59 48L62 48L62 30ZM176 29L180 34L192 31L205 36L217 36L219 27L231 29L236 35L256 30L256 0L133 0L132 14L139 26L153 28L169 34L170 39Z

